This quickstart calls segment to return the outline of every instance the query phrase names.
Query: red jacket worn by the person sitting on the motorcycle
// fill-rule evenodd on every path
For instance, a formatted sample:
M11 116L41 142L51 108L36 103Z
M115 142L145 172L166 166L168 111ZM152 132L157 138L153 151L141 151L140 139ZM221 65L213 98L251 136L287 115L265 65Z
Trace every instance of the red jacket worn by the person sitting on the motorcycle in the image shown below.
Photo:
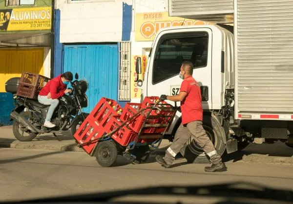
M66 90L67 86L63 84L61 80L61 74L54 78L51 79L40 91L39 95L48 95L49 92L51 92L51 98L56 99L56 98L61 98L65 93L64 91Z

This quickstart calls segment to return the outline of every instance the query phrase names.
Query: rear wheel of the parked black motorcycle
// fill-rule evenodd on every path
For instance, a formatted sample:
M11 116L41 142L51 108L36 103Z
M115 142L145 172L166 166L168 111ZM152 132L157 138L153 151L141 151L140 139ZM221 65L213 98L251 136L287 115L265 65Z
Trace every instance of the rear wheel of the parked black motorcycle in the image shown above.
M28 117L27 112L23 112L21 114L23 114L24 117ZM37 136L37 133L32 133L30 130L16 121L14 121L12 125L12 131L15 138L22 142L29 142Z

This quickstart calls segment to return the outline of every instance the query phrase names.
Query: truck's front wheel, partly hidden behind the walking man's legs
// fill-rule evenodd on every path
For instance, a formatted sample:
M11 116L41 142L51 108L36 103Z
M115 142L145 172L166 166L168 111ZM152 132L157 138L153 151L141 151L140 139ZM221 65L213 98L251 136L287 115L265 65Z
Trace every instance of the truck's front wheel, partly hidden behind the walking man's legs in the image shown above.
M210 116L205 117L203 120L203 127L206 130L209 139L213 143L219 155L223 155L226 149L224 143L223 132L220 125ZM203 149L194 141L193 136L190 137L185 146L180 150L182 156L187 159L189 163L209 163L208 156L204 153Z

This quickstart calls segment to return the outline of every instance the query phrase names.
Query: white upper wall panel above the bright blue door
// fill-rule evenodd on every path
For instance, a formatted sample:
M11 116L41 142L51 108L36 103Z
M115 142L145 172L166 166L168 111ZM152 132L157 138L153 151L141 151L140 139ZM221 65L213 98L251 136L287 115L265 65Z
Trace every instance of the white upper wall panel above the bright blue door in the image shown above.
M123 2L132 0L57 0L60 43L99 43L122 40Z

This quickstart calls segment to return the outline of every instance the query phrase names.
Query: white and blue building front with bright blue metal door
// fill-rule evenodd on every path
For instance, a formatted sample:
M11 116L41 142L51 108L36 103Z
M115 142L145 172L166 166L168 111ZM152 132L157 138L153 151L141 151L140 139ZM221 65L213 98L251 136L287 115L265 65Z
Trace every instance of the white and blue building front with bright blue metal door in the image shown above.
M57 0L55 76L79 73L89 83L90 112L101 97L130 100L132 0ZM127 81L128 80L128 81ZM128 85L127 85L128 84Z

